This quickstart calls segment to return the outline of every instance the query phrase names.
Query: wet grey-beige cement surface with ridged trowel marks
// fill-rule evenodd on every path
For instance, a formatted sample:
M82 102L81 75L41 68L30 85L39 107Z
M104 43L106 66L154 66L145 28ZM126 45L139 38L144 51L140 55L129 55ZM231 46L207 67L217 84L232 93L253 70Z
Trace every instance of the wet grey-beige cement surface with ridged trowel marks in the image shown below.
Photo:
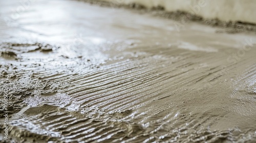
M6 111L7 142L255 142L255 34L23 5L0 2L2 142Z

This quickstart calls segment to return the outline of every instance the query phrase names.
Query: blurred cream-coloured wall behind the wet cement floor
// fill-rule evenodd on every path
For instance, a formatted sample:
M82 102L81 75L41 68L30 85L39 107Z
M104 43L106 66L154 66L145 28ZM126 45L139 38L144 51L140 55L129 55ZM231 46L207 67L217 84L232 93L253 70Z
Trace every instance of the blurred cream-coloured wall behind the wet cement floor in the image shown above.
M256 0L104 0L120 4L138 3L147 8L182 10L204 18L256 23Z

